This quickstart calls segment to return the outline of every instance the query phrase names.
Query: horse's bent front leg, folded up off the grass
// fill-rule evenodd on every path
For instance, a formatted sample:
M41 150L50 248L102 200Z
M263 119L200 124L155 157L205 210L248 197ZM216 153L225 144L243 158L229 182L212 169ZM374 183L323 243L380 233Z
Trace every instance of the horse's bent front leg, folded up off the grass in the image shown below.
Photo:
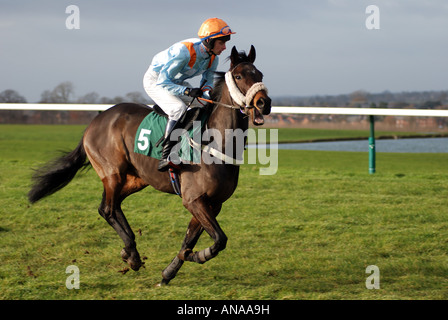
M207 231L210 237L212 237L214 244L211 247L198 252L193 252L193 247L187 246L179 253L178 258L183 261L192 261L202 264L216 257L220 251L226 248L227 236L216 220L216 216L221 210L222 204L212 204L207 195L204 194L196 200L184 205L201 224L201 227Z

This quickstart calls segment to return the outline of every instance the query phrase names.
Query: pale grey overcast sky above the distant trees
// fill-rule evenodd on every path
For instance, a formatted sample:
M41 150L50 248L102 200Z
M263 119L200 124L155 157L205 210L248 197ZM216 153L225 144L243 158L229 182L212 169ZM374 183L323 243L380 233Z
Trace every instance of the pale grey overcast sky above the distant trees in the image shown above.
M366 27L372 4L379 30ZM64 81L76 97L144 92L152 57L211 17L237 33L219 70L233 45L253 44L272 97L448 89L447 0L0 0L0 92L37 102Z

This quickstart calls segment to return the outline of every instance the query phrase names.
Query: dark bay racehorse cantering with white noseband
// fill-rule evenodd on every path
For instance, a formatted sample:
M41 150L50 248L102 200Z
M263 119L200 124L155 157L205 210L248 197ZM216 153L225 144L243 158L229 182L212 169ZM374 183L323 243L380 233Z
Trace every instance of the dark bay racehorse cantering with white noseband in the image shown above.
M255 125L261 125L263 115L270 113L271 99L266 88L262 86L260 90L253 90L254 85L262 84L263 78L253 65L254 61L253 46L248 55L232 48L230 71L227 74L239 89L240 97L241 94L245 97L251 91L251 101L247 101L246 105L235 102L223 76L216 81L212 93L215 103L208 105L212 111L207 126L221 132L223 139L226 129L246 131L249 118ZM121 256L135 271L142 266L142 261L121 203L127 196L148 185L162 192L174 193L169 173L157 170L158 160L133 152L137 128L150 112L152 109L146 105L122 103L99 114L87 127L75 150L47 163L34 173L33 186L28 194L30 202L34 203L66 186L80 169L93 166L104 186L99 214L123 240L125 246ZM225 142L222 141L221 145L222 152L225 152ZM204 263L225 249L227 236L216 216L222 204L235 191L238 174L238 166L225 163L207 164L201 160L201 163L181 166L179 180L182 202L193 217L179 254L162 272L162 284L168 284L176 276L184 261ZM204 230L214 240L214 244L193 252Z

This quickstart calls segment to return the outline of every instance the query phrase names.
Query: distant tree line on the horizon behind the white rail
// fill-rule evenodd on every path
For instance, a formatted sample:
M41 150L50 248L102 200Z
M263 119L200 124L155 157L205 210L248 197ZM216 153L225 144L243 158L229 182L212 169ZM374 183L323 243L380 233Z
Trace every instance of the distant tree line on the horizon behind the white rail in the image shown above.
M421 91L392 93L369 93L357 90L350 94L315 95L315 96L273 96L275 106L315 106L315 107L355 107L355 108L404 108L404 109L448 109L448 91ZM110 104L121 102L135 102L153 104L154 102L141 92L129 92L124 96L113 98L100 97L96 92L89 92L75 97L74 86L66 81L58 84L52 90L45 90L41 94L39 103L81 103L81 104ZM8 89L0 92L0 103L27 103L25 97L17 91ZM98 113L93 111L35 111L35 110L0 110L0 123L33 123L33 124L86 124ZM272 114L272 123L294 125L300 123L338 123L340 121L359 122L364 116L343 117L334 115L279 115ZM385 117L377 117L383 121ZM437 119L436 127L445 128L448 119Z

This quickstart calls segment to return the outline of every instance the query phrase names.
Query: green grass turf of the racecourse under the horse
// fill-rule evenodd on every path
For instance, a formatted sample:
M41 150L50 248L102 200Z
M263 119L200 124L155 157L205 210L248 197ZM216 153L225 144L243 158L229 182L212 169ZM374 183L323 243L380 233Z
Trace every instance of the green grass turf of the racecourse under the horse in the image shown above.
M97 213L94 170L27 202L31 168L74 148L83 130L0 126L0 299L448 298L448 154L378 153L374 175L367 152L279 150L272 176L243 165L218 216L226 250L156 287L190 220L177 196L147 188L125 200L146 258L125 274L122 241ZM211 244L203 234L196 248ZM70 265L79 290L66 288ZM369 265L378 290L366 288Z

